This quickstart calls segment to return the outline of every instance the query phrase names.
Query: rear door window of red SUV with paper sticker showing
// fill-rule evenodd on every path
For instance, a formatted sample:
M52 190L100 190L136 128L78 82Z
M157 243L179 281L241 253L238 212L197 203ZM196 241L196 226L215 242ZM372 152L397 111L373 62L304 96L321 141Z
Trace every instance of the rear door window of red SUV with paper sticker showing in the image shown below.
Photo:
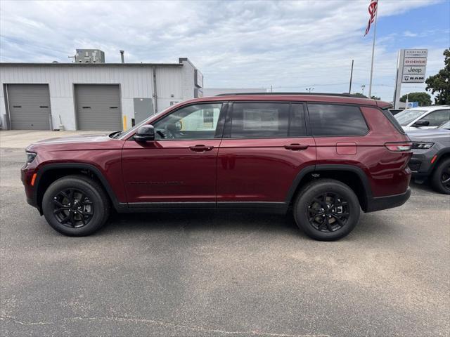
M288 137L288 103L234 103L231 138Z

